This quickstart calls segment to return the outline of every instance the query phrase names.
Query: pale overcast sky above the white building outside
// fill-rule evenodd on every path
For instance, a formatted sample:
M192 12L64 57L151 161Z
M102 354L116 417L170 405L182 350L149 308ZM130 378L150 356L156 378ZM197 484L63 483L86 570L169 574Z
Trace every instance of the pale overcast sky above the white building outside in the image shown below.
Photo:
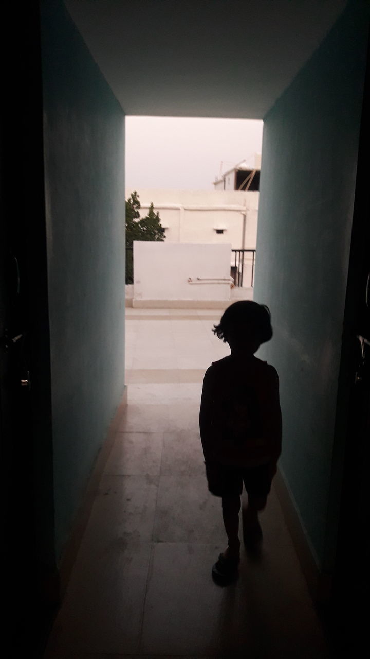
M126 117L126 188L213 190L221 166L253 165L262 130L246 119Z

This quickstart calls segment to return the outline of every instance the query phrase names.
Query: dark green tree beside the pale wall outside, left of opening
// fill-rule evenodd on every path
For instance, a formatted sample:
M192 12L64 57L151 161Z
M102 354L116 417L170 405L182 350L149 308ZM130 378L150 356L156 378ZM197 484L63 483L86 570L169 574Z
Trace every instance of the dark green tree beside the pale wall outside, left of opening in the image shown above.
M165 229L161 225L159 213L155 212L151 202L147 215L140 219L140 201L138 193L132 192L126 200L126 284L134 281L134 241L165 241Z

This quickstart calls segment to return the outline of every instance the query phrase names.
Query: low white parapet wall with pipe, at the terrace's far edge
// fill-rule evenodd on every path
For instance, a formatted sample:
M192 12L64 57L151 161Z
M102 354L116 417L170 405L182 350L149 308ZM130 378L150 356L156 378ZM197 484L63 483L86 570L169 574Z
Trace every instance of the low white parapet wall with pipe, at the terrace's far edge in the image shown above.
M231 244L134 242L134 307L222 308Z

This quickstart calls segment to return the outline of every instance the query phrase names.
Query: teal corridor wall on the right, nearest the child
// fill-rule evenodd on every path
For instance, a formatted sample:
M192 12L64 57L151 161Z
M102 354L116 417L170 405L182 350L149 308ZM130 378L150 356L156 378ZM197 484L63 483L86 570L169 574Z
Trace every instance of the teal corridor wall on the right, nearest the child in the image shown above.
M264 118L254 299L271 308L275 333L260 353L280 374L280 467L321 568L368 7L350 3Z

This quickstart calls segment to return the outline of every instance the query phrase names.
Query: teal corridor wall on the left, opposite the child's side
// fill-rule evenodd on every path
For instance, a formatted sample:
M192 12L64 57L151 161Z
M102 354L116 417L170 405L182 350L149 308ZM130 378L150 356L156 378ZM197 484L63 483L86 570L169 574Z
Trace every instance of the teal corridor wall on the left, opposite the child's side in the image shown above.
M59 556L124 390L124 116L61 1L41 38Z

